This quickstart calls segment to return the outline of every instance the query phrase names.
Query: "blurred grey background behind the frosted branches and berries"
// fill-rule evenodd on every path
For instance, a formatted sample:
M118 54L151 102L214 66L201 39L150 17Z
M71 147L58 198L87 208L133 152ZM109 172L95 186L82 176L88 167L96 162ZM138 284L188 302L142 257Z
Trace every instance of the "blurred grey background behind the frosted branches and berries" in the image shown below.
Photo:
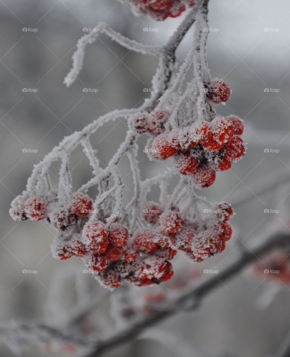
M92 28L102 20L131 39L162 45L183 17L157 22L135 16L122 1L114 0L0 1L0 322L48 319L54 299L60 310L58 315L51 315L54 318L49 322L57 325L56 315L60 323L65 320L76 295L86 288L93 287L104 297L101 306L114 294L98 287L88 274L83 276L77 260L52 258L54 233L48 226L31 221L16 223L8 210L12 199L25 189L33 165L64 136L81 130L108 111L136 107L149 96L144 89L151 87L157 58L124 49L105 35L87 47L79 80L70 88L63 85L76 42L87 33L83 28ZM278 0L274 5L269 0L210 1L211 76L223 78L233 90L230 100L219 106L218 112L225 116L234 113L244 119L244 138L248 142L243 160L234 164L231 171L219 173L215 184L202 191L211 201L235 202L248 195L249 190L256 190L267 177L275 180L281 172L290 170L289 18L290 3L286 0ZM190 48L192 33L188 32L178 48L180 61ZM83 92L83 88L98 91ZM117 120L94 135L95 148L104 165L122 142L127 131L125 124ZM103 139L108 131L110 135ZM158 163L149 162L142 149L139 155L145 159L140 169L151 176L157 172ZM77 189L90 178L90 167L76 153L71 168ZM57 166L52 167L56 175L57 171ZM201 272L205 267L222 270L240 250L248 250L248 246L265 239L273 227L288 230L289 187L283 185L237 207L231 220L234 235L223 253L201 267L190 265L185 259L178 261L178 267ZM279 213L265 213L265 209ZM37 274L22 273L24 269L37 270ZM56 285L56 281L61 282ZM244 272L225 285L221 282L220 289L197 312L182 313L158 329L172 333L180 344L191 348L192 356L194 351L213 356L223 352L233 356L271 355L290 330L286 313L290 299L289 287L282 285L273 301L262 309L257 301L268 288L263 277L259 280ZM5 346L0 354L12 356ZM157 354L177 356L168 346L148 339L135 341L110 356ZM49 348L33 348L23 354L46 355ZM56 355L71 353L60 351Z

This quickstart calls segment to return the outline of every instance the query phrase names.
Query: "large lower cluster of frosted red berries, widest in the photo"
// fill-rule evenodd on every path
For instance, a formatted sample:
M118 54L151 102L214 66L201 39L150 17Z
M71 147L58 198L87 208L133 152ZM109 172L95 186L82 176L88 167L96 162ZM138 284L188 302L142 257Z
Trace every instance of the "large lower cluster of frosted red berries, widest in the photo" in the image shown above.
M184 220L177 206L164 211L156 203L148 202L141 217L149 227L138 229L132 239L118 219L106 227L100 217L93 218L92 200L84 193L75 193L67 209L56 208L55 192L47 198L23 195L12 201L10 215L14 220L46 218L60 232L71 229L52 250L54 257L60 260L80 257L108 289L118 287L123 280L137 286L167 281L173 275L169 260L178 249L185 251L192 261L200 262L222 252L232 234L227 220L233 209L227 203L215 207L214 220L197 223Z

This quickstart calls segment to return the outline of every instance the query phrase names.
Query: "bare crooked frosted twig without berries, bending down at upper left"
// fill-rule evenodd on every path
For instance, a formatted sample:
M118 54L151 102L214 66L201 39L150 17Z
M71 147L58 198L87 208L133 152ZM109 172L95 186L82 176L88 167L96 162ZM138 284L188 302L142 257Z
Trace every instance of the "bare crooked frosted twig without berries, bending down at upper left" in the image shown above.
M77 41L77 50L72 55L72 69L63 80L63 83L67 87L69 87L80 74L83 66L83 57L85 55L86 45L95 42L98 36L102 33L107 34L109 37L111 37L112 40L118 42L118 44L126 47L128 50L156 56L159 54L161 49L161 46L143 45L135 40L129 40L126 36L123 36L111 29L111 27L109 27L105 22L99 22L98 25L94 27L93 31L87 35L82 36Z

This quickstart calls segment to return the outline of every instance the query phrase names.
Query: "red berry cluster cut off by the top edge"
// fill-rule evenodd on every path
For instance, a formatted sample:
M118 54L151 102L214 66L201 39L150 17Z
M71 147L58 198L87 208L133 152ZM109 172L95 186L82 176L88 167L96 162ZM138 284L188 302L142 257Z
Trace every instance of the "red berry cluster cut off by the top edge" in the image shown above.
M187 7L192 7L195 0L127 0L142 14L150 15L154 20L177 17Z

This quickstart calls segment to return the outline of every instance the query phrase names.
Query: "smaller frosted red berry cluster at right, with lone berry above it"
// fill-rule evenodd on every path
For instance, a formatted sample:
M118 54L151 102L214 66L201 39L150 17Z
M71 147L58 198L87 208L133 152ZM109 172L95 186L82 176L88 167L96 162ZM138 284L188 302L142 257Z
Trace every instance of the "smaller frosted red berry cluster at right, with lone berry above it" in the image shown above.
M229 87L222 80L214 80L208 97L215 103L226 101ZM153 136L146 151L149 157L165 160L174 157L174 166L183 175L190 175L197 188L205 188L215 181L216 171L230 169L245 153L246 145L240 137L244 123L236 116L216 116L212 121L198 120L192 125L176 127L165 133L171 112L136 113L131 125L138 133Z

